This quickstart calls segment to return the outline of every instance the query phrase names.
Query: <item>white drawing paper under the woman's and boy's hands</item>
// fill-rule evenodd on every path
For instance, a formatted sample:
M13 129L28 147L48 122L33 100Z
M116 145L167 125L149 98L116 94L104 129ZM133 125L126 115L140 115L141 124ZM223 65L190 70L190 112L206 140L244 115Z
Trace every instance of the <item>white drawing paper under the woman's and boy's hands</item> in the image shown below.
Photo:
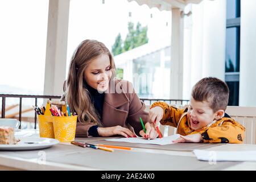
M168 137L163 137L163 138L156 138L156 139L144 139L142 137L137 137L137 138L117 138L117 139L106 139L108 141L112 142L129 142L129 143L144 143L144 144L159 144L159 145L164 145L164 144L172 144L176 142L172 142L172 140L175 140L179 138L179 134L171 135Z

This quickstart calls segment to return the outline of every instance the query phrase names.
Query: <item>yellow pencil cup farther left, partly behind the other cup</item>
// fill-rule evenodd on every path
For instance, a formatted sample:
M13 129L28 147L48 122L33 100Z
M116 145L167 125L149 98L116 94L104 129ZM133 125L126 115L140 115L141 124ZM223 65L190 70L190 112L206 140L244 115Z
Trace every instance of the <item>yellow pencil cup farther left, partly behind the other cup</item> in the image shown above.
M38 124L40 137L55 138L51 115L38 115Z

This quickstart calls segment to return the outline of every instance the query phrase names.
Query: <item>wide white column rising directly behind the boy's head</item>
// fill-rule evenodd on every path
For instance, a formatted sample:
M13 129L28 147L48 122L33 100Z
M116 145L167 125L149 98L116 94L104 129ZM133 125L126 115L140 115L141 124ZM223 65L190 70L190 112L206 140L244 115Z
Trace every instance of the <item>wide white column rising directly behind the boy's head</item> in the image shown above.
M192 37L184 41L191 44L191 80L184 82L189 93L203 77L225 80L226 1L204 0L192 5L191 23Z

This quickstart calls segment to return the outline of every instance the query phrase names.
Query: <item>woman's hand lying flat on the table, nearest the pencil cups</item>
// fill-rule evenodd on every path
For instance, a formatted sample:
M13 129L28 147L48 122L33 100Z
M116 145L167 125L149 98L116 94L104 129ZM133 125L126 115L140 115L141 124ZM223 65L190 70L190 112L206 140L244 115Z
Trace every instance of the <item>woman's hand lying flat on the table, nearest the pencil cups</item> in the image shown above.
M113 127L98 127L98 135L101 137L111 137L113 135L122 135L123 137L136 137L136 135L131 132L131 130L126 129L122 126Z

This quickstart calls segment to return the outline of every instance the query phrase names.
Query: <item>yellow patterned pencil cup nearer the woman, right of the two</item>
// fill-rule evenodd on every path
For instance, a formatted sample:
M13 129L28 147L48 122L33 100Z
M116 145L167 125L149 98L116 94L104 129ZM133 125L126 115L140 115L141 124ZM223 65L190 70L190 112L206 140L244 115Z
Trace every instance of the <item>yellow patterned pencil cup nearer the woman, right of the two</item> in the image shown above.
M52 117L55 139L60 142L75 140L77 115L69 117Z

